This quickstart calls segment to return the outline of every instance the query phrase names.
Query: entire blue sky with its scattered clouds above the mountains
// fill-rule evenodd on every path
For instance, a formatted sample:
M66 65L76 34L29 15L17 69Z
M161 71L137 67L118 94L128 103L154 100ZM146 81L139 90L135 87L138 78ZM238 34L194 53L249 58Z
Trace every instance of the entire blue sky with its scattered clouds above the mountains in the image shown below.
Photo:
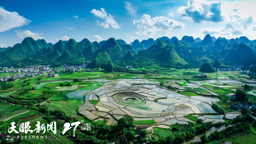
M84 38L91 42L114 37L131 43L148 38L182 36L256 39L255 0L8 0L0 3L0 47L27 37Z

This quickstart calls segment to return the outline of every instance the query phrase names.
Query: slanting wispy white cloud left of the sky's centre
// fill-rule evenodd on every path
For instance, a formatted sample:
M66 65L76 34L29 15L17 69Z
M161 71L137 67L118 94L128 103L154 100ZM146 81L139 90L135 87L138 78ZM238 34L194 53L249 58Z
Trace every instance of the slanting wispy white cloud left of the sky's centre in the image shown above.
M105 9L100 8L100 11L96 9L92 9L91 13L105 20L105 22L102 22L102 23L100 23L97 20L97 25L102 26L103 28L109 28L109 25L111 25L111 27L114 29L120 28L119 24L116 22L116 20L114 20L114 17L111 14L107 13Z

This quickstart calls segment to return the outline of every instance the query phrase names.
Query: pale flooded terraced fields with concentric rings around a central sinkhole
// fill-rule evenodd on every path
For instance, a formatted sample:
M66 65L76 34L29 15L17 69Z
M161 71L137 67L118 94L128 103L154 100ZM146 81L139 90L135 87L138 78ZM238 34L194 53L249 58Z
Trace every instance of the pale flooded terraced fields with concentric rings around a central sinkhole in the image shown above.
M90 111L95 110L107 116L111 114L116 119L126 114L141 118L155 117L154 120L157 122L188 114L215 113L209 103L218 101L217 98L188 97L158 87L158 82L155 82L155 84L152 81L148 83L140 80L140 84L134 84L133 82L112 81L87 93L89 100L99 98L99 102L95 104L96 109L94 106L90 108L81 106L83 111L80 113L91 115L92 112Z

